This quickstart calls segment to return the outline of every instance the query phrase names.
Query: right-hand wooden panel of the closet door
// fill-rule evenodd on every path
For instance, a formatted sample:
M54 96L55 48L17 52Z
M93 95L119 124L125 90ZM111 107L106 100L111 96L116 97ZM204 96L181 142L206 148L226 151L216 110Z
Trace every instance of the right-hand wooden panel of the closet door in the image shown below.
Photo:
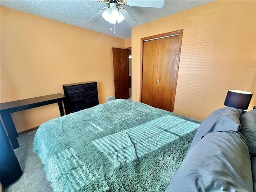
M179 52L179 35L161 38L158 48L156 81L156 107L173 111L176 63Z

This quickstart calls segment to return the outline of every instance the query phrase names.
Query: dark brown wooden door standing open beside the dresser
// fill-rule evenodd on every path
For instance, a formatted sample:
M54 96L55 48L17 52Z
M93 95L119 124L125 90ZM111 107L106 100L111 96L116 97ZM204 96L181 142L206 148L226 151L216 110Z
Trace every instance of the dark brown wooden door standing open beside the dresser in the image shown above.
M112 48L116 99L128 99L129 94L129 52Z

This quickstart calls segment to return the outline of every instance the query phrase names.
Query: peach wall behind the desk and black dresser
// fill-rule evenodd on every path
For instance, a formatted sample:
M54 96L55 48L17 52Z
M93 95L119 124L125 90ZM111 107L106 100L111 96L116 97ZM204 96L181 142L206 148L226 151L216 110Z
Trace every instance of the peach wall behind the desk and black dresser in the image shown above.
M64 94L62 84L97 81L104 103L114 95L112 47L125 48L125 40L1 6L0 101ZM18 132L59 116L58 104L12 114Z

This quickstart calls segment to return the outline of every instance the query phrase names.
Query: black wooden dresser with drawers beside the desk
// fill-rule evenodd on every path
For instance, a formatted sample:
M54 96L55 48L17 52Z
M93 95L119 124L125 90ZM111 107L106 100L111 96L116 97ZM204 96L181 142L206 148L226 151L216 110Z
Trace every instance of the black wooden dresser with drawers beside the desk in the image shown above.
M99 104L97 82L89 81L62 85L65 96L66 114L77 112Z

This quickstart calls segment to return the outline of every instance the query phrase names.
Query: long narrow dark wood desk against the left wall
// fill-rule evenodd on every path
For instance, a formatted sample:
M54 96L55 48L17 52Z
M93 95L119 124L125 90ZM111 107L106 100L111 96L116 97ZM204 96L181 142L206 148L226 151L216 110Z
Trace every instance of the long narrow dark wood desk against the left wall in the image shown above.
M9 139L11 141L12 148L16 149L20 147L20 145L17 140L18 133L12 121L11 113L23 111L23 110L31 109L35 107L40 107L44 105L58 103L59 109L60 109L60 116L63 116L64 108L62 106L62 102L64 102L65 99L66 97L64 95L58 93L58 94L41 96L41 97L34 97L29 99L22 99L17 101L1 103L0 104L1 118L3 120Z

